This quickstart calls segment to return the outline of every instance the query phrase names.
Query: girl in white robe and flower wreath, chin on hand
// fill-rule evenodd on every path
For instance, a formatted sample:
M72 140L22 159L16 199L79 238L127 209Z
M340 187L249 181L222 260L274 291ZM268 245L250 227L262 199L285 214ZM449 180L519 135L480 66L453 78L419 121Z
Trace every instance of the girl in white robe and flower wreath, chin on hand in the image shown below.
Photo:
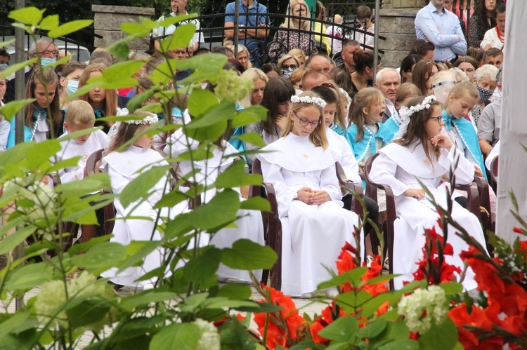
M433 97L433 96L431 96ZM425 243L424 230L438 226L439 215L417 180L431 191L438 204L446 208L446 186L443 175L448 175L458 160L454 170L458 184L469 184L474 179L474 166L462 152L453 145L448 135L442 133L443 120L441 107L435 98L416 97L408 106L417 112L408 111L410 118L408 129L403 138L389 144L379 151L379 156L372 163L370 178L379 184L388 184L396 196L398 218L393 226L395 241L393 244L393 273L401 274L395 278L396 289L403 286L403 281L413 281L412 273L417 269L417 262L423 258L422 247ZM407 112L404 112L407 113ZM479 220L468 210L453 201L453 219L474 237L483 247L485 238ZM453 256L445 255L445 261L463 269L460 258L462 250L468 245L455 234L455 229L448 226L448 243L453 246ZM463 287L466 290L476 288L474 272L469 268L465 275Z

